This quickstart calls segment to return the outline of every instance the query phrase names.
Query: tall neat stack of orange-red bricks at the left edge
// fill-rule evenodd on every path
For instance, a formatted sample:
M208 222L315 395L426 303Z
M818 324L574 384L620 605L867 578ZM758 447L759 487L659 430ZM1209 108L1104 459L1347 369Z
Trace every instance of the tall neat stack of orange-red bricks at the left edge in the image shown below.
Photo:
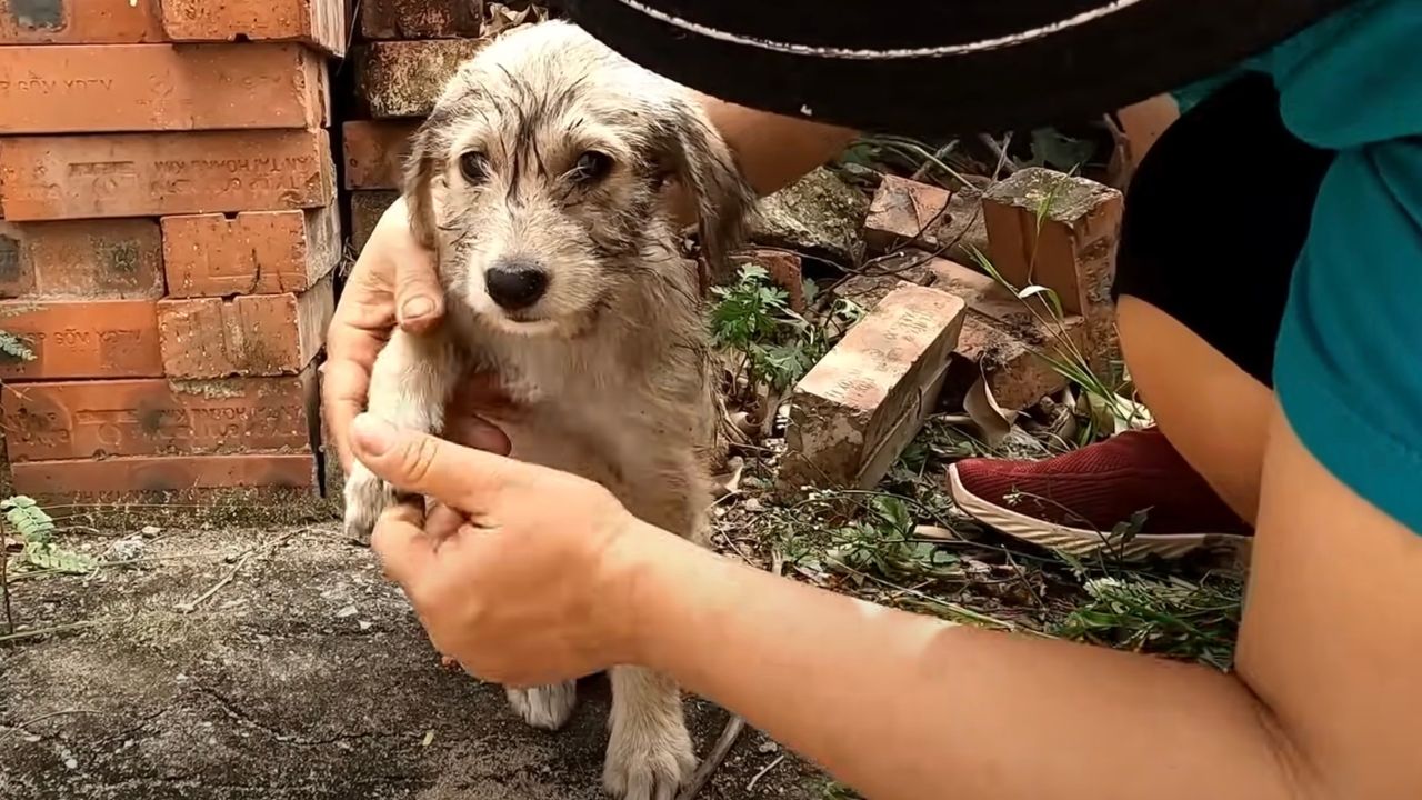
M343 0L0 0L16 491L316 493Z

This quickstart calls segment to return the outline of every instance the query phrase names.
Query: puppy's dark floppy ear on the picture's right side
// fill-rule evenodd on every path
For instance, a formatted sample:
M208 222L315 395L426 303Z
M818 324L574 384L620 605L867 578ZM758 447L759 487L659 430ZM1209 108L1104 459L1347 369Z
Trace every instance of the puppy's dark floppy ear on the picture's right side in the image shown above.
M745 241L758 198L700 107L677 100L670 110L657 137L661 157L695 204L711 282L722 283L731 278L731 252Z

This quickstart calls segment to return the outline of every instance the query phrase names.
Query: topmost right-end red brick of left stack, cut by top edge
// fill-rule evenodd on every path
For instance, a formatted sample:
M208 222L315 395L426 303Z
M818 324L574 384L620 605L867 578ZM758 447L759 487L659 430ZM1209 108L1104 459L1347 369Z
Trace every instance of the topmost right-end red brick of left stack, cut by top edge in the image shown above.
M85 1L85 0L80 0ZM161 0L173 41L303 41L346 53L344 0Z

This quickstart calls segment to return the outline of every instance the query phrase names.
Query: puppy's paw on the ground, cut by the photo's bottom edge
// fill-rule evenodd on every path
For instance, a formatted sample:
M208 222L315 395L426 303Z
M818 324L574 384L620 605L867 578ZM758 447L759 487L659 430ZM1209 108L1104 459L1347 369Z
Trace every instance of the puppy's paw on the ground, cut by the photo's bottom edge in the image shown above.
M614 725L603 786L620 800L673 800L697 767L691 736L680 723Z

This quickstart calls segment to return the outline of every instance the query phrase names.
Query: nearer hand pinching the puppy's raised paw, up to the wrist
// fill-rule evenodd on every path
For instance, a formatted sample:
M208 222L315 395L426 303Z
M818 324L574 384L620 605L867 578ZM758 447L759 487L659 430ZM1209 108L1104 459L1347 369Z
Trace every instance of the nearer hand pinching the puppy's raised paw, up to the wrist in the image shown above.
M638 660L630 554L648 552L648 538L680 540L577 475L371 416L351 430L354 456L373 473L442 504L428 520L411 504L392 507L371 538L439 652L513 686Z

